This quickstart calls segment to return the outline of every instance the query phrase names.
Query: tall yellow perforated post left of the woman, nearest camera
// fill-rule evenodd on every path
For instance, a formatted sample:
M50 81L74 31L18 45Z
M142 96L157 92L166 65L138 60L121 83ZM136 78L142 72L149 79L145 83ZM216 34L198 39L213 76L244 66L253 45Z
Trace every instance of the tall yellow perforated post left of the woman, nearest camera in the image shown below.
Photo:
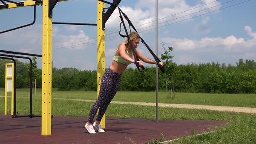
M49 0L43 0L42 135L52 134L52 24Z

